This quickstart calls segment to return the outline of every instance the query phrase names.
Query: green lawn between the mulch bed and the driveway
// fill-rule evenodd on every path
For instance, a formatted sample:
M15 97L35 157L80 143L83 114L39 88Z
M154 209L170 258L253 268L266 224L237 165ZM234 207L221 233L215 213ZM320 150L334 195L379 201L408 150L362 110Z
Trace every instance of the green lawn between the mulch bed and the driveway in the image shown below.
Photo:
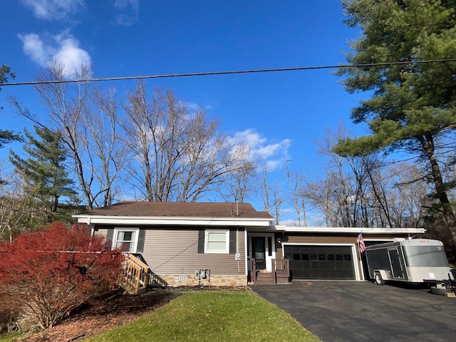
M320 340L252 291L188 291L152 314L83 341Z

